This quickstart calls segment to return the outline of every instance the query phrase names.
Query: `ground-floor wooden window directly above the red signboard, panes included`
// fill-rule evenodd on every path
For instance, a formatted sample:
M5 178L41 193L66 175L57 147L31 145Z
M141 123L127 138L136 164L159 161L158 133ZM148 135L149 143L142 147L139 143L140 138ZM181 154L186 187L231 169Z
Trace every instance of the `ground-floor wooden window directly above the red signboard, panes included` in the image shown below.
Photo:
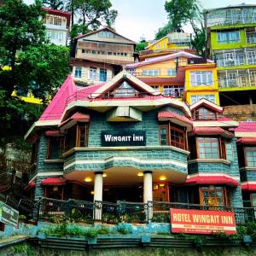
M217 186L201 187L200 203L203 206L230 206L230 190Z

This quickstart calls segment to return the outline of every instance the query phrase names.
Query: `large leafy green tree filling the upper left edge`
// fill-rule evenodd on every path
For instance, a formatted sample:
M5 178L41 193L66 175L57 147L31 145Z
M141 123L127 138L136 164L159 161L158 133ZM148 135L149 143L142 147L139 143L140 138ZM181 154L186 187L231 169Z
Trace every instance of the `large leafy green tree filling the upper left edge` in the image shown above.
M20 122L38 114L14 91L30 91L47 102L67 76L69 50L47 44L43 18L38 0L6 0L0 7L0 137L11 128L18 133Z

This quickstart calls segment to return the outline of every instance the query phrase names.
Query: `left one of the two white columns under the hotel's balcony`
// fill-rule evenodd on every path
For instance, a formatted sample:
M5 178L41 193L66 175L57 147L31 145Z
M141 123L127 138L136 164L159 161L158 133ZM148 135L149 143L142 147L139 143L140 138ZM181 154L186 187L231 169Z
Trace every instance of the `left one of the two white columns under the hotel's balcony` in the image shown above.
M102 190L103 190L103 172L95 172L94 179L94 202L102 201ZM101 221L102 220L102 203L96 202L94 219Z

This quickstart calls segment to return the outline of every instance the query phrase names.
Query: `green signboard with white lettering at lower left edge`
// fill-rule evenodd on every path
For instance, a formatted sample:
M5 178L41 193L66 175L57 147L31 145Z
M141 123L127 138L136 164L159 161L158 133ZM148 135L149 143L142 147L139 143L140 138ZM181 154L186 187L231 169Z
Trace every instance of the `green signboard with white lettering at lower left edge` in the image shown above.
M19 212L5 203L0 202L0 222L18 227Z

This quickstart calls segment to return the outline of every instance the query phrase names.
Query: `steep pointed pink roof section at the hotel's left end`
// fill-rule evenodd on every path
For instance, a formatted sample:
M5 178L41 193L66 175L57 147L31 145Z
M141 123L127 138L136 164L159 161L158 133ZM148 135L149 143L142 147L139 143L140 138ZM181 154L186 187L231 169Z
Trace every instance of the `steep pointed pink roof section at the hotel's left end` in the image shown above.
M61 88L57 91L52 101L49 103L48 107L44 110L39 121L61 119L61 115L67 106L67 98L72 96L75 92L76 85L69 75L64 84L61 85Z

